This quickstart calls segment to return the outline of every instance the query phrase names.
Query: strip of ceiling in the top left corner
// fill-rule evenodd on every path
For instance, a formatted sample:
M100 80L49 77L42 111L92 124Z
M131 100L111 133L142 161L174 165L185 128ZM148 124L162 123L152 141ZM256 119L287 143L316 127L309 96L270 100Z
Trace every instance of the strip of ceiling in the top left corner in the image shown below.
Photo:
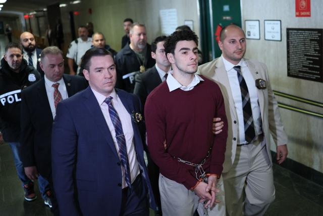
M0 15L6 14L6 12L22 12L30 13L35 10L42 10L47 7L47 5L52 5L58 3L55 0L7 0L4 5Z

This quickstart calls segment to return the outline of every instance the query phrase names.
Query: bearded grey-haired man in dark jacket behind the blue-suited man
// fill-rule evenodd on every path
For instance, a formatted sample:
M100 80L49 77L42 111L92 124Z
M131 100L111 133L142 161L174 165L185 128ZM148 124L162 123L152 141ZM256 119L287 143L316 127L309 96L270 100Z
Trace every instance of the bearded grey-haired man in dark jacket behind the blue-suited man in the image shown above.
M133 93L135 75L145 72L155 65L151 58L150 45L147 44L146 27L141 23L132 24L129 32L130 44L127 44L116 56L116 87Z

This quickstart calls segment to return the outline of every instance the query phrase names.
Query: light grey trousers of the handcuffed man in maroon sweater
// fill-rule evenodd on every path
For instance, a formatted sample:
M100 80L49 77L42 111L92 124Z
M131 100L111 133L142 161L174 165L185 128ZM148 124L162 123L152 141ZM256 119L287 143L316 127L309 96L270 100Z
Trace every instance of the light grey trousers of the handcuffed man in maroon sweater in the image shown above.
M217 199L221 200L221 202L216 203L212 209L207 209L209 216L222 216L226 214L222 177L218 180L217 188L220 190L217 193ZM159 192L161 210L164 216L190 216L194 214L196 209L199 215L203 215L203 202L199 202L199 197L194 191L187 190L184 185L170 180L161 174L159 174Z

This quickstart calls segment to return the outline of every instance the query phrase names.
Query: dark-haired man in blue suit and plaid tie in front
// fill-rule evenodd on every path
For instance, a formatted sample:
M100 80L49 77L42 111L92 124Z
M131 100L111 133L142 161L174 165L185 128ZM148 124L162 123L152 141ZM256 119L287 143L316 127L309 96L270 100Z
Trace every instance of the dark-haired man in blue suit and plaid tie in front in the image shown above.
M139 99L115 89L112 54L88 50L89 87L60 102L52 127L52 176L61 215L149 215L155 202L143 159Z

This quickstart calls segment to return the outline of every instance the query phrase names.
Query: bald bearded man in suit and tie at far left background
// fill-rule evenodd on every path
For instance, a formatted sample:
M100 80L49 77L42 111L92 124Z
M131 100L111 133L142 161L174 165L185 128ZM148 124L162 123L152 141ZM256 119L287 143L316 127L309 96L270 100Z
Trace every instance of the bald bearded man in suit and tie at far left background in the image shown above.
M35 37L32 33L25 31L20 35L20 43L23 48L23 57L29 66L38 70L43 77L44 72L39 66L41 49L36 48Z

